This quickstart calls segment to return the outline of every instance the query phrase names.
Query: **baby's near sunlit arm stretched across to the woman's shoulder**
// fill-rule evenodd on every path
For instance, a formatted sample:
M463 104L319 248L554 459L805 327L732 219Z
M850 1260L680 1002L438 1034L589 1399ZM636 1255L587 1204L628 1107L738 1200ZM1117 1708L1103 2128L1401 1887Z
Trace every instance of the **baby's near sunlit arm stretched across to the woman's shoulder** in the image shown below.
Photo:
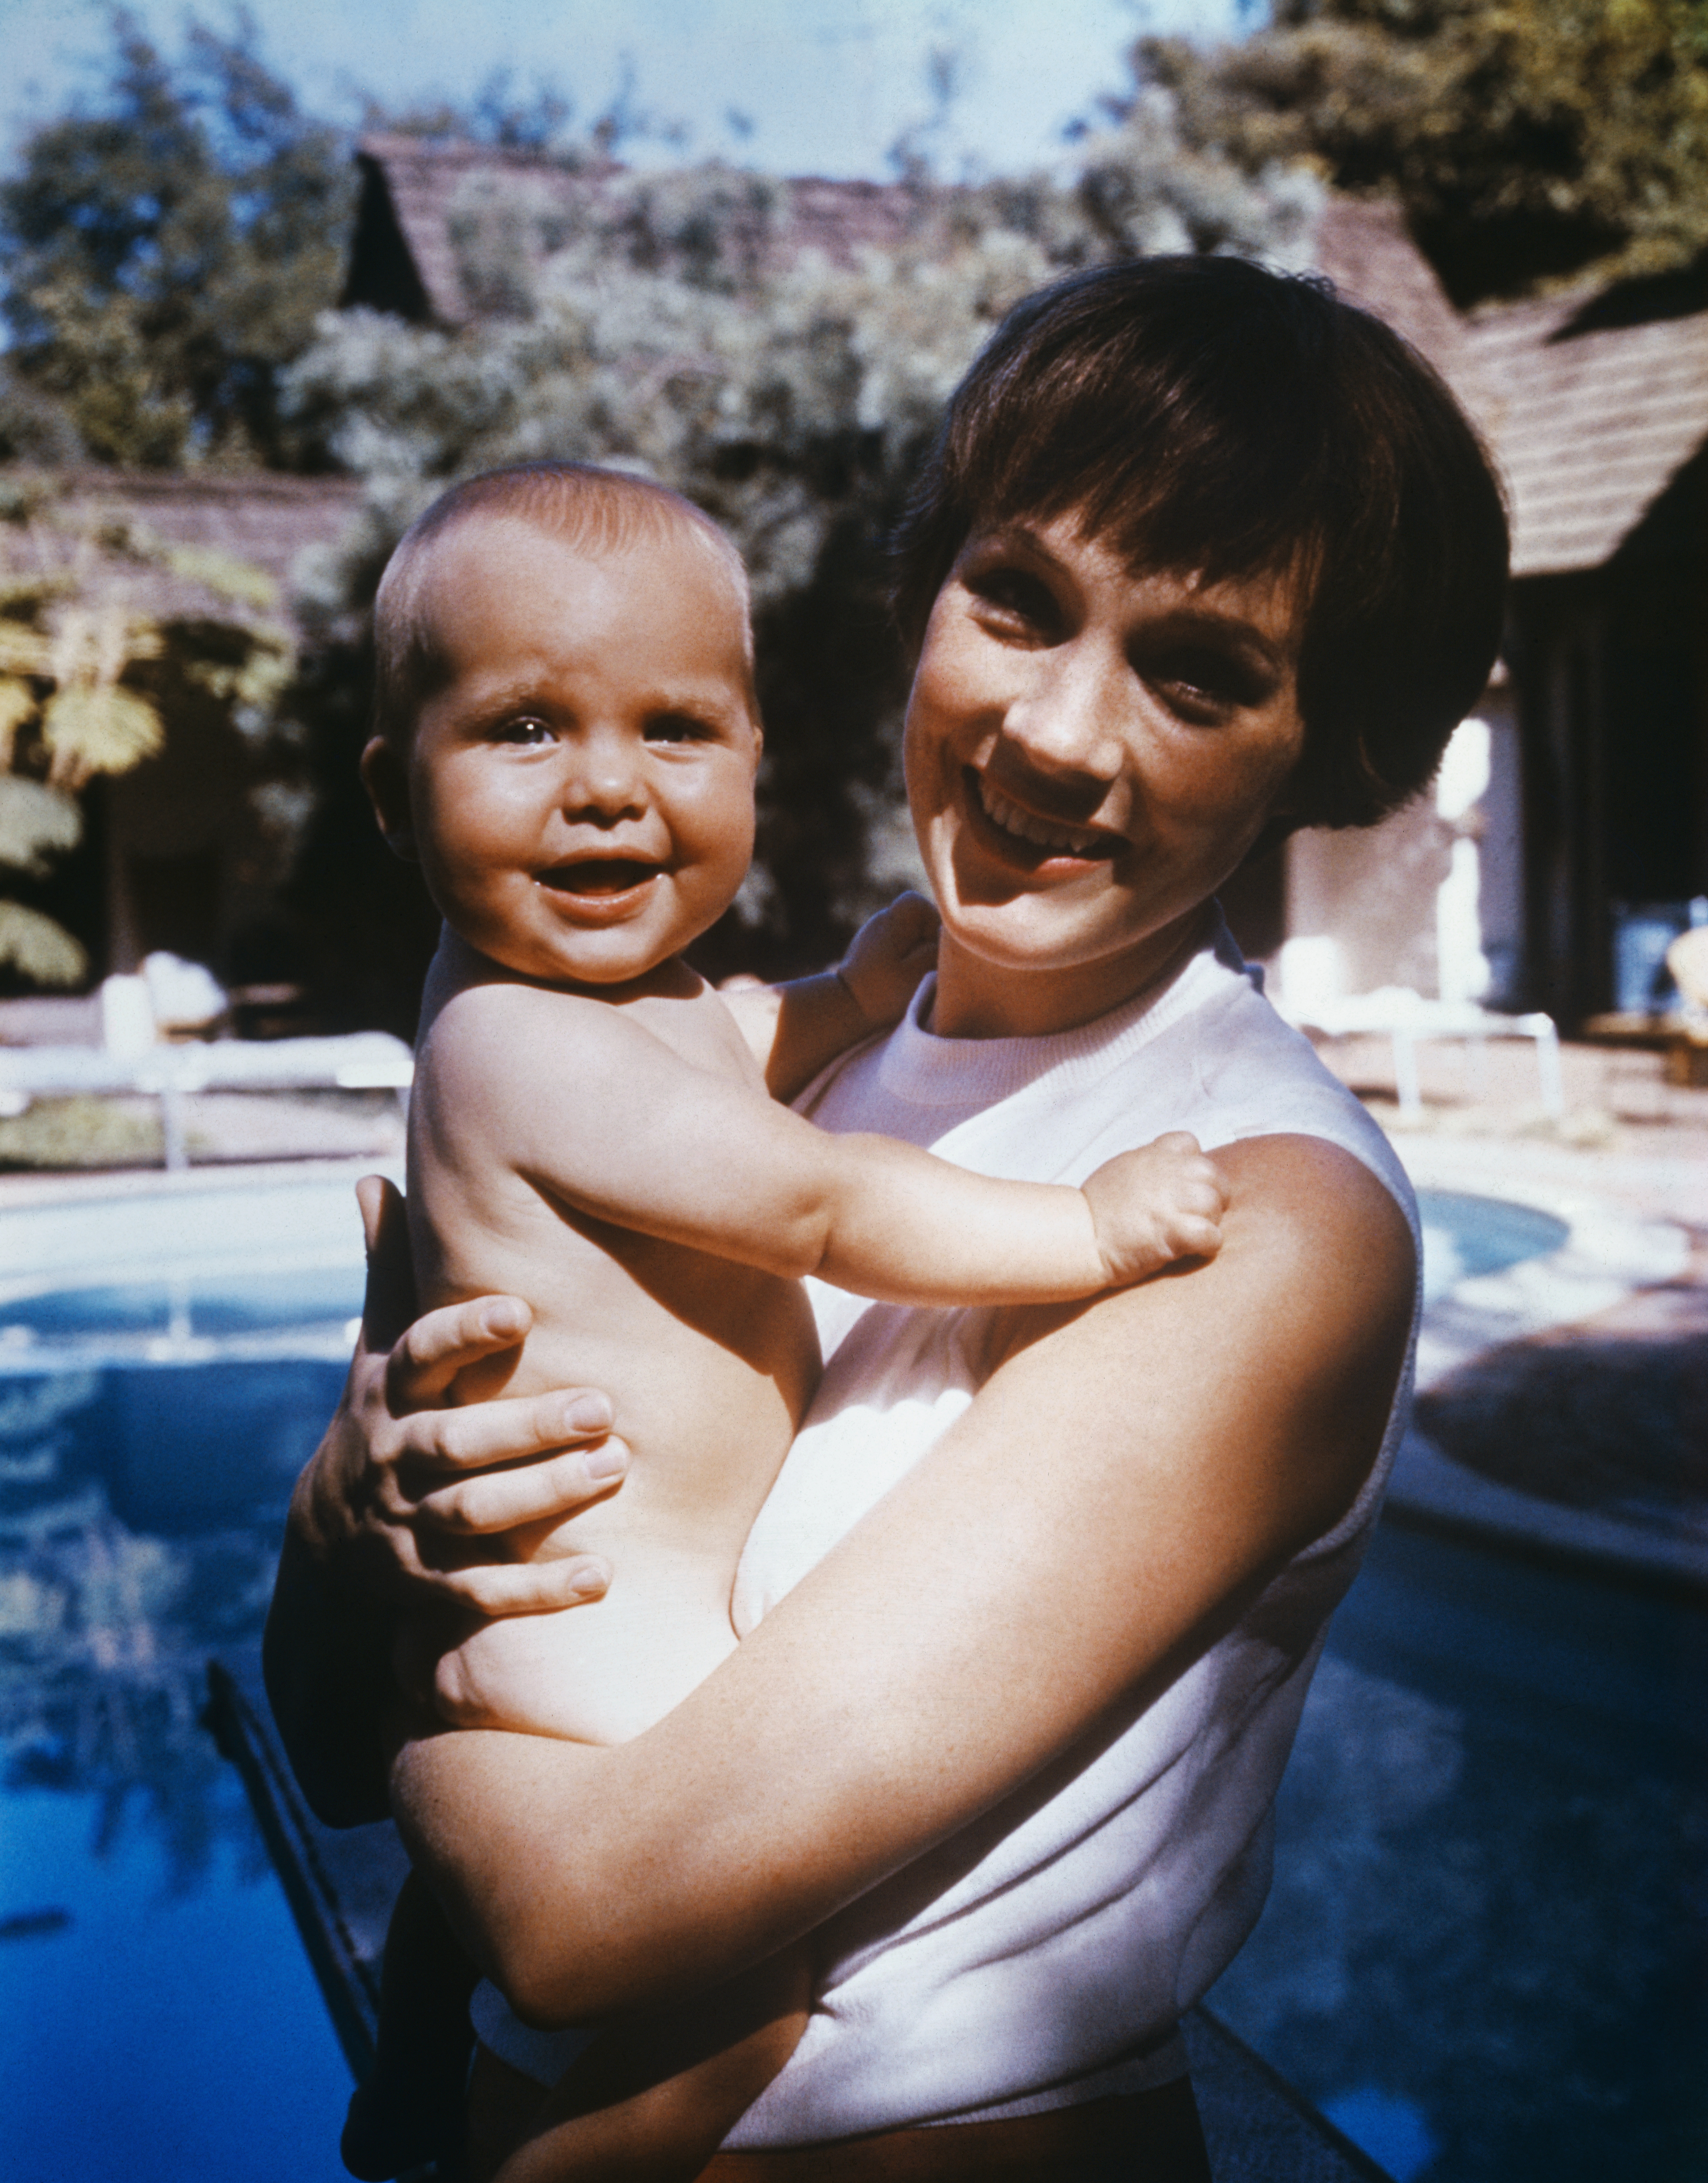
M819 1131L622 1009L579 1002L572 1022L553 1037L472 1015L439 1048L437 1102L485 1109L511 1168L642 1236L926 1305L1070 1301L1221 1244L1225 1192L1190 1137L1125 1153L1086 1190L998 1183L889 1137ZM513 1063L500 1081L494 1046Z

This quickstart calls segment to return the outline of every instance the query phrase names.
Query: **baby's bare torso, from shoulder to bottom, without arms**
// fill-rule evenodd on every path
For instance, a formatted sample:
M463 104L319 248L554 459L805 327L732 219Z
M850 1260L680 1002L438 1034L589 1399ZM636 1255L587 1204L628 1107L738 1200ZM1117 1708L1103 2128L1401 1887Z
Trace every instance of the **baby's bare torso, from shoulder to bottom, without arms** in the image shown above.
M819 1351L795 1281L660 1242L533 1181L507 1142L509 1057L577 1129L622 1081L585 1063L585 1011L609 1002L435 963L408 1129L408 1214L424 1310L515 1295L533 1332L459 1377L454 1399L603 1388L631 1450L622 1484L570 1522L511 1535L518 1559L598 1552L603 1600L472 1631L437 1670L441 1705L487 1725L585 1742L651 1727L734 1650L730 1589L760 1502L813 1395ZM625 1013L686 1067L764 1083L708 989ZM577 1037L577 1030L583 1037ZM684 1177L684 1188L692 1179Z

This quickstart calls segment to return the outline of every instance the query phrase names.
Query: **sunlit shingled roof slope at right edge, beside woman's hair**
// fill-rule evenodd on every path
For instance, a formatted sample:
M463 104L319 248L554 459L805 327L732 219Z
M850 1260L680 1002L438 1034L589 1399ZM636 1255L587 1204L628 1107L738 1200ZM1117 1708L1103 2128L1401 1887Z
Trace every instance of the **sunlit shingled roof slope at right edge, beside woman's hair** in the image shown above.
M1516 576L1601 568L1708 439L1708 310L1632 325L1603 303L1579 290L1468 327Z

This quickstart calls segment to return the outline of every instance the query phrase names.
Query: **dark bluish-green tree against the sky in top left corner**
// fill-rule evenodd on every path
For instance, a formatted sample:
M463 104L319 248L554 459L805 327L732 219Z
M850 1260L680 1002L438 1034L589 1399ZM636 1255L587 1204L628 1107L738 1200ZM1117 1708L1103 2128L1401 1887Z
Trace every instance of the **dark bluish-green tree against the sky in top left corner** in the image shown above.
M0 186L0 454L63 458L70 428L103 463L282 461L277 371L343 275L345 148L242 15L229 37L192 17L177 65L122 9L111 35L98 107L37 129Z

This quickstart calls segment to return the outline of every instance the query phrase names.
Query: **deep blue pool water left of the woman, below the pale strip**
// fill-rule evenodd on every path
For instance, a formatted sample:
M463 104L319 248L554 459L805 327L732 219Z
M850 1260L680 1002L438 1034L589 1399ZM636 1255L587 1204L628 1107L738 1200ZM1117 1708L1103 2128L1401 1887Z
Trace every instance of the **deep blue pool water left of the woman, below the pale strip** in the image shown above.
M260 1633L341 1377L317 1358L0 1375L7 2172L343 2174L347 2069L199 1722L207 1655Z

